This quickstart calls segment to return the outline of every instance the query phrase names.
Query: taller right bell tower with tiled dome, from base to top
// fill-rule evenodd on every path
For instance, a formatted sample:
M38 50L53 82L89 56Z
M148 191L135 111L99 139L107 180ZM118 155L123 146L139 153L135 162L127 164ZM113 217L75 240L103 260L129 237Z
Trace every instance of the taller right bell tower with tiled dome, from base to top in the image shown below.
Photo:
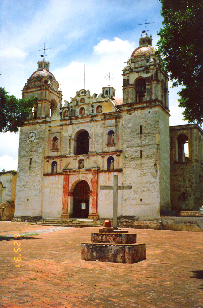
M123 178L134 189L124 213L158 218L170 209L168 76L147 33L123 69L122 109Z

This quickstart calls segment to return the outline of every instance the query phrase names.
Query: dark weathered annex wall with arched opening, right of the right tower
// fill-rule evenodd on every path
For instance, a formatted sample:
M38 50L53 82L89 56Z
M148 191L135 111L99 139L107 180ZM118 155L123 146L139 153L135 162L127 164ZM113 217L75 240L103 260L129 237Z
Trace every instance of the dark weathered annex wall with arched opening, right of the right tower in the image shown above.
M178 161L180 134L188 137L189 156ZM170 127L170 182L172 210L199 210L203 199L203 132L197 124Z

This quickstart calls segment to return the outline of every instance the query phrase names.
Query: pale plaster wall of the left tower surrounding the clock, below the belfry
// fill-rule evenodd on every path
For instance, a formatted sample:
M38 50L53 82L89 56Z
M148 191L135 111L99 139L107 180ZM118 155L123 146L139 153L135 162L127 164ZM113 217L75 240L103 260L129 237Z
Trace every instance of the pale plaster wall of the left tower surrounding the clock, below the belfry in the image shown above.
M33 142L28 140L30 131L36 133ZM44 134L43 123L20 129L15 216L41 215Z

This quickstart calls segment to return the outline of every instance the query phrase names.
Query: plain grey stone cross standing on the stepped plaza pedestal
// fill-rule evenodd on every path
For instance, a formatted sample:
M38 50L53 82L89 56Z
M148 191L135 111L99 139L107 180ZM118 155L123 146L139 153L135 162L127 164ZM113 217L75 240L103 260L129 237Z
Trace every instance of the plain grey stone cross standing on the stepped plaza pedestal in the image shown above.
M113 228L117 228L117 212L118 212L118 189L132 189L132 186L118 186L118 176L114 175L114 185L113 186L100 186L102 190L113 189L114 203L113 203Z

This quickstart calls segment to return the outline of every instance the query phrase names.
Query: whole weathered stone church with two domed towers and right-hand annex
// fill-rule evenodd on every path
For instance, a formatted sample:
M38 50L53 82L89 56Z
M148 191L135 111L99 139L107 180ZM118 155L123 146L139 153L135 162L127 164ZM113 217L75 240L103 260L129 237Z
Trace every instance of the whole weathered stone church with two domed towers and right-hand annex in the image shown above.
M202 206L202 139L196 124L169 127L168 76L141 35L123 69L123 99L113 87L98 95L76 92L62 105L49 62L25 83L24 98L37 96L20 129L15 217L159 219L171 210ZM184 147L188 144L188 154Z

